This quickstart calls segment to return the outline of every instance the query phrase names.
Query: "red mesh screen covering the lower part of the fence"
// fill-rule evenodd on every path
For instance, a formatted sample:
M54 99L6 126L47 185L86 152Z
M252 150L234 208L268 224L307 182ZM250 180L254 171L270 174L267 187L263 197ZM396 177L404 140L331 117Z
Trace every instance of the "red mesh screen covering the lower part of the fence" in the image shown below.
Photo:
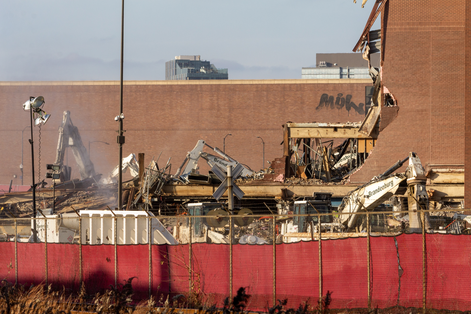
M120 239L118 230L116 245L111 223L106 227L110 244L102 243L100 229L95 233L86 229L81 244L73 232L64 242L48 242L47 246L44 242L0 242L0 277L27 288L47 281L54 289L64 287L73 293L80 290L83 281L89 295L109 289L115 284L115 275L118 284L134 277L135 301L148 298L150 291L157 301L161 297L165 301L169 294L183 294L218 307L230 295L232 281L232 295L244 287L252 296L250 311L266 311L274 298L287 299L288 307L297 308L306 301L317 307L319 285L322 296L331 293L331 309L365 309L371 300L371 308L386 309L384 313L391 313L388 311L394 307L421 310L424 295L427 309L468 311L471 307L469 234L371 232L368 251L366 232L323 232L319 251L318 232L309 229L313 224L281 233L270 217L244 217L235 220L233 229L212 218L214 224L221 225L213 231L204 229L207 222L199 218L193 224L198 226L196 231L188 233L189 228L186 235L180 233L174 244L159 243L165 242L158 235L165 229L160 229L154 244L149 245L145 243L146 224L133 225L126 219L134 233L126 235L129 239ZM91 226L89 223L87 228ZM236 239L232 245L225 240L231 232ZM43 239L41 233L39 238Z

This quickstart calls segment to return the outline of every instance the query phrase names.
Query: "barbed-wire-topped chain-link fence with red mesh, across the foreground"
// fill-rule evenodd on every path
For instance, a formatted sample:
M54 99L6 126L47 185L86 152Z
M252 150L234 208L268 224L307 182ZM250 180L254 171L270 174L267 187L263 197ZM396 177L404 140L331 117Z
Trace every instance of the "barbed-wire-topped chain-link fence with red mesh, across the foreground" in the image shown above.
M134 277L135 300L184 294L219 307L244 287L251 311L277 299L317 307L328 291L331 309L469 310L471 219L463 211L362 212L348 225L340 217L350 214L317 210L0 219L0 278L71 293L84 282L94 294ZM409 225L413 215L418 225Z

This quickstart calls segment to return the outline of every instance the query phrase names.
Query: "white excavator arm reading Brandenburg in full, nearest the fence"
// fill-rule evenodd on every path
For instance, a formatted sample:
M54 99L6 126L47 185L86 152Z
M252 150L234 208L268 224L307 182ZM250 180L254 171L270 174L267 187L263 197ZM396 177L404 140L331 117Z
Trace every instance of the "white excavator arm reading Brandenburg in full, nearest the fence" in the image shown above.
M409 161L405 173L393 173ZM426 177L422 163L416 153L409 153L409 157L398 161L383 174L374 177L365 185L357 187L342 200L338 210L340 221L345 227L356 228L363 224L365 215L358 212L373 211L378 205L387 201L394 194L404 194L407 191L410 232L422 231L420 209L429 209L429 198L425 189ZM424 226L431 228L429 213L425 212Z

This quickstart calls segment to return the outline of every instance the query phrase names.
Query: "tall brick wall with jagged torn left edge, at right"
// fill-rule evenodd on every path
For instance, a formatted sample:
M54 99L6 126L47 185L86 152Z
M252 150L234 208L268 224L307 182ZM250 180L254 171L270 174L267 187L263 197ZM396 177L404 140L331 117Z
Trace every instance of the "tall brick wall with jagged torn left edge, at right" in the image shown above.
M371 179L411 151L424 165L464 163L464 9L464 0L386 3L382 83L397 99L398 116L352 182Z

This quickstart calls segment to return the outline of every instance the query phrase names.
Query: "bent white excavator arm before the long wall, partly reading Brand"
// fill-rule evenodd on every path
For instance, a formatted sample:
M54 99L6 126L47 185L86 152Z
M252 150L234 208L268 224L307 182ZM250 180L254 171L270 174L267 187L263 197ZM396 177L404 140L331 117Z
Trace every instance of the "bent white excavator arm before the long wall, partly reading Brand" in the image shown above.
M208 146L214 152L218 153L220 156L222 156L223 158L227 160L219 158L218 156L215 156L215 155L211 155L210 153L203 152L204 146ZM187 153L187 157L182 162L181 166L177 170L177 173L175 173L174 177L180 177L182 180L185 180L187 183L192 183L191 177L189 178L188 176L192 176L196 174L195 172L196 172L196 168L198 167L198 161L200 158L203 158L211 168L213 166L218 166L220 169L222 169L222 171L227 171L227 166L232 165L233 168L235 168L235 166L239 164L238 161L236 161L235 159L232 159L227 154L223 153L218 147L213 148L210 145L206 144L205 141L200 139L198 143L196 143L195 148L193 148L191 152ZM182 171L181 169L185 166L185 163L187 163L187 165L185 169L183 169ZM246 166L244 167L244 169L242 169L240 176L244 177L244 176L249 176L252 174L253 174L253 170ZM202 182L199 182L199 183L202 183ZM211 181L209 181L209 183L211 183Z

